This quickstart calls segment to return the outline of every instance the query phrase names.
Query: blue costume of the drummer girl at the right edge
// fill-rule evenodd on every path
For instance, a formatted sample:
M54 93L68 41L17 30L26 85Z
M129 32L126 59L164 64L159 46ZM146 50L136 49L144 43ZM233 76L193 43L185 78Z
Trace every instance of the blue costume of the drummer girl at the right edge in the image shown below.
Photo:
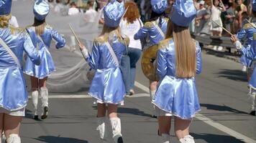
M252 24L244 24L242 29L237 32L237 38L239 39L239 41L244 41L244 39L246 40L243 42L243 45L246 49L250 49L254 33L256 33L256 29L252 26ZM248 59L244 55L241 56L240 61L242 62L242 64L244 64L244 66L247 67L249 67L252 63L252 60Z

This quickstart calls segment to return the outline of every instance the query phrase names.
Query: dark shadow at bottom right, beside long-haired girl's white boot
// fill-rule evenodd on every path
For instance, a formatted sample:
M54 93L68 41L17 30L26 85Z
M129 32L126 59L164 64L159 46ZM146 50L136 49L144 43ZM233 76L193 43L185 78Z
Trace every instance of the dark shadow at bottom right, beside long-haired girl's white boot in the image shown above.
M194 139L204 139L208 143L244 143L243 141L226 135L220 135L220 134L206 134L206 133L190 133Z

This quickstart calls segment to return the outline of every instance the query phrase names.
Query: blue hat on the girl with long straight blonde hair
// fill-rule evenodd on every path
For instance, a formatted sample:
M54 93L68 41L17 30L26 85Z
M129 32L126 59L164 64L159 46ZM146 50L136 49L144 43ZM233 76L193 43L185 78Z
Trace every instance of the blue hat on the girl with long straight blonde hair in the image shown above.
M193 0L176 0L170 14L170 20L178 26L189 26L196 17L196 8Z

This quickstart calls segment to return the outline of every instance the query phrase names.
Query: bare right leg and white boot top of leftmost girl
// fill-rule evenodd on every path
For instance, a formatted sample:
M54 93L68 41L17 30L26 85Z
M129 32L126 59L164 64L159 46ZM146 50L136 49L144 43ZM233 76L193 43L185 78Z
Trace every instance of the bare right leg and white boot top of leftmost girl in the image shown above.
M23 117L14 117L4 114L4 134L8 142L20 142L19 129Z

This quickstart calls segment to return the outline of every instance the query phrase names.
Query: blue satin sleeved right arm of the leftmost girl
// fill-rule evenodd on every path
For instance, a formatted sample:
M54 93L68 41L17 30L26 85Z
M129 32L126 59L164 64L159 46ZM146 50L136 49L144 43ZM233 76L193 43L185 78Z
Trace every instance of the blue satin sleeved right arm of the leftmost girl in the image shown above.
M27 55L29 56L29 59L31 59L31 61L36 64L36 65L40 65L40 55L37 52L37 49L35 49L34 44L32 43L32 40L30 39L29 34L25 34L24 36L24 51L27 53Z

